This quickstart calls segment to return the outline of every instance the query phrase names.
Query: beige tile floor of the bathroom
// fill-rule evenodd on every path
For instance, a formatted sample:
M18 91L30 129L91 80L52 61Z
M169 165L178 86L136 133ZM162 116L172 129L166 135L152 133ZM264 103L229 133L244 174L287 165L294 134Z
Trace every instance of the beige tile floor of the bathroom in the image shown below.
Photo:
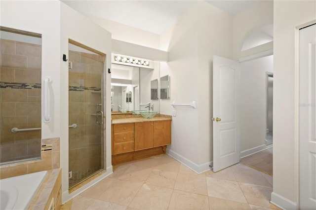
M278 210L272 177L242 164L197 174L164 154L114 172L62 210Z

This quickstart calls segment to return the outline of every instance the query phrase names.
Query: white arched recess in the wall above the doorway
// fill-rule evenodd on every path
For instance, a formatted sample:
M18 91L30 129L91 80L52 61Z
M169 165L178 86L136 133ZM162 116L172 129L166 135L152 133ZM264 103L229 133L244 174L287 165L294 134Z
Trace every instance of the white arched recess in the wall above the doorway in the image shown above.
M240 43L240 51L273 41L273 24L254 27L249 30Z

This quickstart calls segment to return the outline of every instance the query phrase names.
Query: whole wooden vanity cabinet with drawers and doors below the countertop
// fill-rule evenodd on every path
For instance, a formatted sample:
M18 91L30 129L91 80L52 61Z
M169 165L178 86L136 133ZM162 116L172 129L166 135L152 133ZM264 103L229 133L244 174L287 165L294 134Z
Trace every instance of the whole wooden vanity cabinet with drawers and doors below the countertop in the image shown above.
M171 120L112 125L112 165L166 153Z

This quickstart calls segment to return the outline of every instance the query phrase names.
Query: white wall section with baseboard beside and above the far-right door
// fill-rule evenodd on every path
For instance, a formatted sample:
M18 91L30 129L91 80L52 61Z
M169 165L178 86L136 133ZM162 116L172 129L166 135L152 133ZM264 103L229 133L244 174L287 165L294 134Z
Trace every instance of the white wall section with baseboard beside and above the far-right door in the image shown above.
M298 208L296 134L296 27L316 20L316 1L274 1L274 153L271 200L283 209Z

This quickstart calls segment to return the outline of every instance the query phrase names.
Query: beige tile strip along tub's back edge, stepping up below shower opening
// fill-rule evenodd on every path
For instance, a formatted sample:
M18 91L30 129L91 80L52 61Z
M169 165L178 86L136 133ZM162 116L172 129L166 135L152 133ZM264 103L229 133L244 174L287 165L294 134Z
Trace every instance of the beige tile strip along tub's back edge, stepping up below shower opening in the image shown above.
M3 179L42 170L59 168L59 138L42 139L41 142L42 146L47 146L42 148L48 149L41 151L41 160L0 166L0 178ZM49 149L49 147L51 147L51 149Z

